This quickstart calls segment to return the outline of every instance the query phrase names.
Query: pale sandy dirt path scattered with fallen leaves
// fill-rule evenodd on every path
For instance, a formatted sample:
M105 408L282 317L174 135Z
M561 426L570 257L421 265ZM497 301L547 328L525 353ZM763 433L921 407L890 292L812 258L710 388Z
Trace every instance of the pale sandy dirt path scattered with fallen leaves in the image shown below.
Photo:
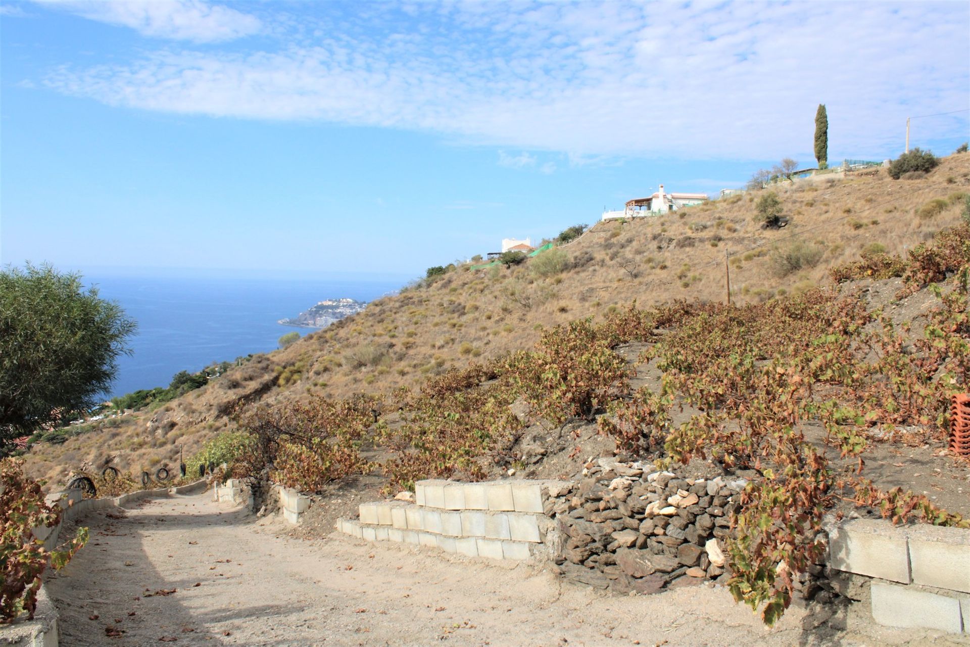
M535 566L495 566L338 534L301 541L278 521L220 508L208 494L79 521L90 528L90 542L49 581L67 647L173 638L179 645L558 646L927 639L874 627L856 611L831 623L847 631L806 630L813 619L798 608L768 631L724 589L705 586L610 598Z

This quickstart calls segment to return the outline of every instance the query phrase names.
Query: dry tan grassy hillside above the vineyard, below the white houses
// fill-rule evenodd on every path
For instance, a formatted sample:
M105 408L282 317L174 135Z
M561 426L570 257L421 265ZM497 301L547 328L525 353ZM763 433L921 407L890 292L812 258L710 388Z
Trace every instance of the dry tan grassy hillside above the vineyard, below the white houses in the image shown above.
M830 268L865 249L904 254L956 223L956 195L970 191L970 155L944 158L924 178L893 180L880 170L773 190L791 218L780 230L760 228L761 192L753 192L657 218L598 222L576 241L510 269L459 266L158 409L102 421L60 445L38 443L27 455L29 472L57 483L71 469L108 462L138 471L178 466L179 445L191 456L232 427L229 414L242 403L359 392L383 396L384 409L394 410L396 389L472 359L532 348L543 328L599 321L634 300L639 307L723 302L726 264L735 304L829 284Z

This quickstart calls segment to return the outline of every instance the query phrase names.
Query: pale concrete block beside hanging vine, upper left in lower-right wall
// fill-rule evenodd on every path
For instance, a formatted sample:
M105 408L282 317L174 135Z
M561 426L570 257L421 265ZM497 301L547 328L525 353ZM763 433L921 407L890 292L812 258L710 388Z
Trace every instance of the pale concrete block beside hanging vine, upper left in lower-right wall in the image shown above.
M910 583L909 550L903 530L885 521L853 519L828 532L828 564L838 570Z

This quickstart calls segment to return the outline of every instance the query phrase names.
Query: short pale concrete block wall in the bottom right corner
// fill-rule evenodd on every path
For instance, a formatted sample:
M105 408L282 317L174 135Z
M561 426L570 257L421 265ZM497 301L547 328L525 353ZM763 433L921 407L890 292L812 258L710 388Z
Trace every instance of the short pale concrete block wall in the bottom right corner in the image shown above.
M828 566L872 578L880 625L970 633L970 530L830 520Z

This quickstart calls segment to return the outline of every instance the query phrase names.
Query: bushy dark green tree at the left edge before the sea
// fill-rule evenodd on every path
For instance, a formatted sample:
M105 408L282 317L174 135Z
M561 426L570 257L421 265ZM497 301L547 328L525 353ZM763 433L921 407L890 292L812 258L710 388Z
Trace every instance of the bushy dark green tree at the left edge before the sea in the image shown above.
M0 271L0 455L13 438L97 404L135 329L80 275Z

